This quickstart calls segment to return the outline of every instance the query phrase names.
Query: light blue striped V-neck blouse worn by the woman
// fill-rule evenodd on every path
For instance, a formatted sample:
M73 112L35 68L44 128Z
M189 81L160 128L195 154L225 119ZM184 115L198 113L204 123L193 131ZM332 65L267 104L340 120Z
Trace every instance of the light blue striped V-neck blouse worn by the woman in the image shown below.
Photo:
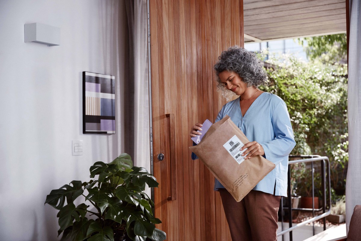
M257 141L265 151L264 157L276 167L253 190L287 196L288 154L295 147L290 116L284 101L277 95L262 93L242 116L239 98L225 104L216 122L226 115L246 135L249 141ZM252 159L251 159L252 160ZM216 179L214 190L224 188Z

